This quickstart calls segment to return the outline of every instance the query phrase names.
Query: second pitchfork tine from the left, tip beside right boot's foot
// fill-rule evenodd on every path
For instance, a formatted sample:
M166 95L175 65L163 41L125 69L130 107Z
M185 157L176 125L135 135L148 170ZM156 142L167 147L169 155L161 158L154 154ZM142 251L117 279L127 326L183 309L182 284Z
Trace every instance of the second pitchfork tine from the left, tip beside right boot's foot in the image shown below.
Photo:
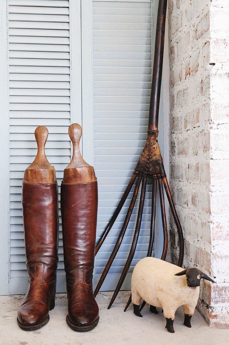
M127 226L129 224L129 221L130 221L130 217L131 217L131 214L132 214L132 211L133 211L133 208L135 206L135 203L136 203L136 199L137 199L137 196L138 196L138 191L139 191L139 187L140 187L140 183L141 183L141 179L142 179L142 176L138 176L138 179L137 179L137 182L136 182L136 185L135 185L135 190L133 192L133 196L132 196L132 199L130 201L130 206L128 208L128 211L127 211L127 215L125 217L125 220L124 220L124 223L122 225L122 228L121 228L121 231L120 231L120 234L118 236L118 239L117 239L117 242L116 242L116 245L109 257L109 260L103 270L103 273L99 279L99 282L96 286L96 289L94 290L94 297L96 297L96 295L98 294L101 286L102 286L102 283L104 282L104 279L106 278L107 274L108 274L108 271L112 265L112 262L113 260L115 259L116 257L116 254L118 253L118 250L121 246L121 243L122 243L122 240L123 240L123 237L125 235L125 232L126 232L126 229L127 229Z

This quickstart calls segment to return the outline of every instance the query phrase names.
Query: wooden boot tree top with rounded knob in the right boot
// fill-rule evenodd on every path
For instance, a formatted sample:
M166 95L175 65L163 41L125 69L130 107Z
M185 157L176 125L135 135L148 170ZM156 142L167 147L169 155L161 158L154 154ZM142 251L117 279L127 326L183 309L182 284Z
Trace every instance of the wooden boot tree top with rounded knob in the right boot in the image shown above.
M63 183L75 184L96 181L94 168L86 163L80 153L81 126L79 124L72 124L68 129L68 134L73 144L73 155L71 162L64 169Z

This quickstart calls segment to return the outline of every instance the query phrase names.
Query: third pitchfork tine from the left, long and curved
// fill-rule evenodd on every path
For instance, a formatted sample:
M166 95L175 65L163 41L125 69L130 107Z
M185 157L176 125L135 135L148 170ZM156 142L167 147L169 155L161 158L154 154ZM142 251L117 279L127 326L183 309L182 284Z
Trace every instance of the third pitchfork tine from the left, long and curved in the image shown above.
M116 299L118 292L124 282L124 279L126 278L128 269L130 267L130 264L132 262L133 256L135 254L135 250L136 250L136 246L137 246L137 242L138 242L138 237L139 237L139 233L140 233L140 227L141 227L141 220L142 220L142 213L143 213L143 207L144 207L144 202L145 202L145 195L146 195L146 177L142 178L142 185L141 185L141 196L140 196L140 203L139 203L139 209L138 209L138 217L137 217L137 223L136 223L136 228L135 228L135 233L133 236L133 241L132 241L132 245L130 248L130 253L129 256L127 258L127 262L123 268L121 277L119 279L119 282L117 284L117 287L115 289L115 292L111 298L110 304L108 306L108 309L110 309L110 307L112 306L114 300Z

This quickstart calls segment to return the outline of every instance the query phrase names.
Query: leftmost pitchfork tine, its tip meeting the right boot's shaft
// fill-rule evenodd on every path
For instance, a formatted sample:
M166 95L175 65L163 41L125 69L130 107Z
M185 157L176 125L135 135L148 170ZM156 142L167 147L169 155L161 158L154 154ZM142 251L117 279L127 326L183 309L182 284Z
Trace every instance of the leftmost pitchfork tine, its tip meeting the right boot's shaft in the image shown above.
M117 219L117 217L118 217L118 215L119 215L119 213L120 213L120 211L122 209L122 206L124 205L128 195L129 195L129 193L131 191L131 188L132 188L133 184L135 183L136 178L137 178L137 175L133 174L131 179L130 179L130 182L128 183L128 186L127 186L127 188L126 188L126 190L125 190L125 192L124 192L124 194L123 194L123 196L121 198L121 200L119 201L119 204L118 204L118 206L117 206L117 208L115 210L115 213L111 217L109 223L107 224L106 228L104 229L104 231L102 233L102 236L98 240L98 243L96 245L96 252L95 252L96 254L98 253L101 245L103 244L104 240L106 239L107 235L109 234L110 229L112 228L113 224L115 223L115 221L116 221L116 219Z

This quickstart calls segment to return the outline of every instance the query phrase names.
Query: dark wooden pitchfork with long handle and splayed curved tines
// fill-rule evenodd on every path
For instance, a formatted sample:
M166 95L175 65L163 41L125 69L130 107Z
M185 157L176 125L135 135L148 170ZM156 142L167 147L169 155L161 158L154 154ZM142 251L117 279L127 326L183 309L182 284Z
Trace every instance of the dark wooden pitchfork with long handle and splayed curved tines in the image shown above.
M138 217L137 217L136 228L135 228L135 233L133 236L130 253L129 253L127 262L125 264L125 267L122 271L118 285L111 298L108 309L110 309L111 305L113 304L115 298L118 295L118 292L124 282L128 269L132 262L133 256L135 254L140 227L141 227L142 213L143 213L143 207L144 207L144 201L145 201L145 195L146 195L147 178L152 179L152 212L151 212L149 248L148 248L147 256L152 255L152 249L153 249L154 231L155 231L155 215L156 215L156 194L157 194L157 181L158 181L163 235L164 235L163 252L162 252L161 260L166 259L166 254L167 254L167 249L168 249L168 231L167 231L165 200L164 200L164 192L163 192L163 185L164 185L165 192L166 192L169 205L172 211L172 215L173 215L173 218L175 220L177 230L178 230L178 237L179 237L178 266L181 266L183 262L183 254L184 254L183 233L182 233L180 221L178 219L177 212L173 203L171 192L169 189L169 184L166 178L165 168L163 166L163 160L161 157L161 152L160 152L160 148L158 144L158 115L159 115L163 52L164 52L164 41L165 41L166 9L167 9L167 0L160 0L159 6L158 6L158 16L157 16L156 43L155 43L155 54L154 54L154 60L153 60L152 88L151 88L151 96L150 96L149 124L148 124L148 136L146 140L146 145L142 151L141 156L139 157L138 164L135 168L135 171L133 172L133 176L130 179L130 182L117 206L117 209L115 213L113 214L113 216L111 217L108 225L106 226L101 238L99 239L96 245L96 254L97 254L105 238L107 237L111 227L115 223L115 220L118 217L131 191L132 186L135 184L135 189L133 192L132 199L130 201L126 218L120 230L116 245L111 253L111 256L106 264L106 267L103 270L103 273L94 291L94 296L96 296L97 293L99 292L99 289L101 288L102 283L108 274L111 264L113 260L115 259L116 254L118 253L118 250L120 248L123 237L125 235L127 226L129 224L130 216L135 206L139 187L141 184L141 195L140 195L140 203L139 203L139 209L138 209ZM131 296L126 305L125 311L128 308L130 302L131 302ZM143 301L141 308L143 308L144 305L145 305L145 302Z

